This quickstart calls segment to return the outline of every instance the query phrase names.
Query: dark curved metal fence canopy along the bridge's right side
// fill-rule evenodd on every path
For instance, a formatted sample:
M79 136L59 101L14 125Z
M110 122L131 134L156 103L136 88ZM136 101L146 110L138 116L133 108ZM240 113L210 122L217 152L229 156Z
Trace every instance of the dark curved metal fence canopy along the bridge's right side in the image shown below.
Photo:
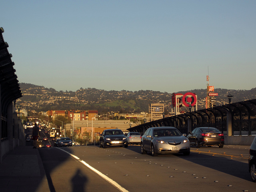
M231 119L228 118L229 115ZM227 130L229 124L232 124L231 130ZM227 131L231 131L232 135L256 134L256 99L187 112L127 130L143 134L148 128L156 126L174 126L186 134L196 127L203 126L215 127L224 134L227 134Z

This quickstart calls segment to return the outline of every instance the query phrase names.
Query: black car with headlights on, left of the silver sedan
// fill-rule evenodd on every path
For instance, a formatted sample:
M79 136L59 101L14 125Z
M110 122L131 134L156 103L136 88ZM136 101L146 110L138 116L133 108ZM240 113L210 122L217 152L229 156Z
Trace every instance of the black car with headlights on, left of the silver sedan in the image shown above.
M128 140L120 129L106 129L100 134L100 147L128 147Z

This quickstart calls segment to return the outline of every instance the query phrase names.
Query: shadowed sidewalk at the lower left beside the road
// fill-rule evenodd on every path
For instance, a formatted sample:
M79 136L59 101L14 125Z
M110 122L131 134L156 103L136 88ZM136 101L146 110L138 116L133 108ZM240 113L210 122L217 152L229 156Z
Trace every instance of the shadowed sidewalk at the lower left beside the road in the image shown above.
M50 192L38 149L19 146L3 156L0 191Z

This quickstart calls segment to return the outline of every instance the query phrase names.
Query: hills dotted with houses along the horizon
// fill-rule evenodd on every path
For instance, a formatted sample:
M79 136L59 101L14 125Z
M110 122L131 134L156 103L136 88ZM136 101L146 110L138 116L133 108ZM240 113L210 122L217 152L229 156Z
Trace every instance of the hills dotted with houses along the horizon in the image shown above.
M148 112L151 103L164 103L166 112L171 110L172 93L139 90L139 91L105 91L96 88L80 88L73 91L56 91L28 83L20 83L22 98L17 104L36 112L47 110L98 110L100 114L106 112L138 113ZM179 92L195 93L198 97L198 109L205 108L206 89L195 89ZM216 105L228 103L226 95L232 94L232 102L239 102L256 98L256 88L251 90L228 90L217 88L214 92Z

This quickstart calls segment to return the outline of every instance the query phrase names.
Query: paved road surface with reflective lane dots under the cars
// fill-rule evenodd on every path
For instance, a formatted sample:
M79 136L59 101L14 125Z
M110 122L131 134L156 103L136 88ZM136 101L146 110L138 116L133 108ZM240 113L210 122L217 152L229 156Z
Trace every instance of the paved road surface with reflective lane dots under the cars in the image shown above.
M41 148L39 152L51 191L252 192L256 188L248 172L248 146L191 148L189 156L157 157L140 154L139 146Z

